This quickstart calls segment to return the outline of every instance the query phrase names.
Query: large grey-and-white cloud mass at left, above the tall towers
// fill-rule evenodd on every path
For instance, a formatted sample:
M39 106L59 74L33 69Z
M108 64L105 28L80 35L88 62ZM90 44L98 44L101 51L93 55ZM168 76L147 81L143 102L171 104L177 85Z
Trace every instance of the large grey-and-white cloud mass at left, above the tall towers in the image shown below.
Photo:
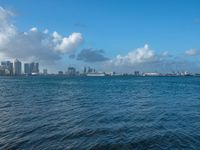
M0 7L0 54L5 57L55 61L65 54L75 54L83 42L81 33L62 36L56 31L50 34L48 29L41 32L36 27L20 32L11 24L12 16L12 12Z

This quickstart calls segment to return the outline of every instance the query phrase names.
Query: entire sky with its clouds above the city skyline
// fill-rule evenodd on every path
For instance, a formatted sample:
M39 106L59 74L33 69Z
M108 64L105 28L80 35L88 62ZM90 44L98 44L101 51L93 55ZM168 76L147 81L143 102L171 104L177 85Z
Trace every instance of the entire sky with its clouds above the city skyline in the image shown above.
M0 0L0 60L50 72L200 72L199 0Z

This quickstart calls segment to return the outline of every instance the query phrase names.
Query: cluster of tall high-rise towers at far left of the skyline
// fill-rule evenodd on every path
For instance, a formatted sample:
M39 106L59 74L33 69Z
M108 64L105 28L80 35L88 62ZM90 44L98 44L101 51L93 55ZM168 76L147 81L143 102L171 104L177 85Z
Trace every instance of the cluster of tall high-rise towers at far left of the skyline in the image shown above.
M0 75L18 76L18 75L36 75L39 74L39 63L24 63L24 72L22 72L22 62L18 59L11 61L2 61L0 65Z

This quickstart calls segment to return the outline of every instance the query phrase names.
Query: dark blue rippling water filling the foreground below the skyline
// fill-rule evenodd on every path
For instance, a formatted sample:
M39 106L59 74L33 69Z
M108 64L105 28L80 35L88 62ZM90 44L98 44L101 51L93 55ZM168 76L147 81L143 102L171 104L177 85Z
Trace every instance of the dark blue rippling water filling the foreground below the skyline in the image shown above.
M200 78L0 77L0 149L200 149Z

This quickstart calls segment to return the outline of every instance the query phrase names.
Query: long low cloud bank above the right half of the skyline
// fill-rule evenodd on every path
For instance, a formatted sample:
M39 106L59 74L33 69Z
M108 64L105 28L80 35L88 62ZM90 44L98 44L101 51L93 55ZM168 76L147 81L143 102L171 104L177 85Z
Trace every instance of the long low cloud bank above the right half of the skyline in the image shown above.
M168 51L156 53L156 51L150 49L148 44L132 50L126 55L117 55L102 65L102 67L105 66L108 68L107 71L117 70L128 73L133 73L135 70L165 73L184 70L192 72L200 67L198 62L191 62L180 56L172 55Z

